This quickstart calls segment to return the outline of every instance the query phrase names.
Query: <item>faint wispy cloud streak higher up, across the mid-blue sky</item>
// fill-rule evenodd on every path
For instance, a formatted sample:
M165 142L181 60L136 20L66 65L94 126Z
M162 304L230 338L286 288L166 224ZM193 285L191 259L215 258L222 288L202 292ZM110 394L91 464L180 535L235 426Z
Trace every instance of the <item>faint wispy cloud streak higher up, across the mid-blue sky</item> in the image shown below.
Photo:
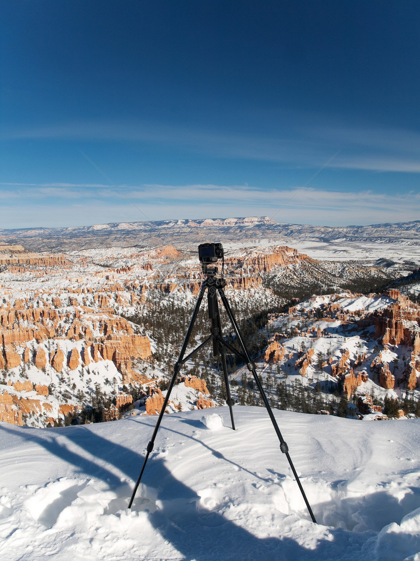
M136 121L72 121L26 130L3 131L3 139L141 141L218 158L262 160L283 165L420 173L420 135L410 130L377 127L333 127L329 123L296 123L272 127L272 134L242 134L208 128L168 126Z

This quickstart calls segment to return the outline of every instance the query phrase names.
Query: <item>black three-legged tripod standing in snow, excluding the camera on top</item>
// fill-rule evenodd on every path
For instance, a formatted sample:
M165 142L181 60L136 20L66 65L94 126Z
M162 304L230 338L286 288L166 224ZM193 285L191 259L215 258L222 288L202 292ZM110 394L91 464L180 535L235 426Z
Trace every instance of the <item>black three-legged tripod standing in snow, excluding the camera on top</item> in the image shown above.
M137 492L138 486L140 484L140 481L142 479L144 468L146 467L148 457L150 456L150 453L153 450L153 445L155 444L157 431L159 430L159 427L160 427L160 424L161 424L161 421L162 421L162 417L164 416L165 409L166 409L166 406L169 402L170 394L172 392L172 388L174 387L175 380L176 380L176 377L179 374L181 366L183 366L185 364L185 362L187 362L190 358L192 358L194 355L196 355L200 349L202 349L204 346L206 346L207 343L212 342L213 343L213 356L219 356L219 355L221 356L222 370L223 370L223 380L225 382L226 397L227 397L226 403L229 407L232 429L235 430L234 412L232 411L232 406L234 405L234 400L231 397L229 380L228 380L228 377L227 377L226 350L230 351L231 353L234 353L236 356L241 358L241 360L245 361L246 367L253 374L256 386L258 387L258 390L260 392L260 396L263 399L264 406L267 409L268 415L270 417L270 420L273 424L274 430L276 431L278 440L280 442L280 449L283 452L283 454L286 455L286 458L287 458L287 460L289 462L289 465L291 467L291 470L293 472L293 476L295 476L297 485L298 485L298 487L299 487L299 489L302 493L302 497L304 498L306 507L309 511L309 514L310 514L311 518L312 518L312 522L316 523L314 513L312 512L310 504L309 504L309 502L306 498L305 491L302 488L302 484L301 484L301 482L299 480L299 477L296 473L295 466L293 466L293 462L292 462L292 459L291 459L290 454L289 454L288 446L287 446L286 442L284 442L282 433L280 432L280 429L279 429L277 421L274 417L272 408L270 407L267 396L265 395L263 386L262 386L262 384L261 384L261 382L258 378L258 375L256 374L255 362L253 362L251 360L251 358L248 354L248 351L246 350L245 343L242 339L242 335L239 331L239 327L238 327L238 325L236 323L236 320L234 318L234 314L232 313L229 302L227 301L225 291L224 291L224 288L226 286L226 280L216 277L217 267L209 267L207 264L203 264L202 266L203 266L203 273L206 275L206 279L204 279L204 281L202 283L202 286L200 288L197 304L195 304L195 308L194 308L194 311L193 311L193 316L190 320L190 324L189 324L188 330L187 330L186 335L185 335L183 346L182 346L181 351L179 353L178 360L175 362L174 375L172 376L172 379L171 379L170 384L169 384L169 388L167 389L165 401L164 401L164 404L162 405L161 411L159 413L159 416L158 416L158 419L157 419L157 422L156 422L156 426L155 426L155 430L153 431L153 434L152 434L152 438L150 439L150 442L147 444L146 457L144 457L143 466L142 466L140 475L138 476L136 486L134 487L133 494L132 494L130 503L128 505L128 508L131 508L131 505L133 504L134 496L136 496L136 492ZM189 339L190 339L190 336L191 336L191 333L192 333L192 330L193 330L193 327L194 327L194 324L195 324L195 320L197 319L198 311L200 309L200 305L203 301L203 297L204 297L204 294L206 293L206 290L207 290L208 316L209 316L209 319L211 320L211 329L210 329L211 335L210 335L210 337L208 337L206 339L206 341L203 341L203 343L199 344L198 347L196 347L192 352L190 352L189 355L184 356L185 351L186 351L186 347L188 346L188 342L189 342ZM228 343L227 341L225 341L225 339L223 339L222 325L221 325L221 320L220 320L220 312L219 312L219 306L218 306L218 301L217 301L217 294L220 296L222 304L225 307L226 313L228 315L228 318L230 319L232 327L234 328L234 331L235 331L235 334L236 334L236 339L237 339L237 342L239 343L239 346L240 346L242 352L237 351L235 347L233 347L230 343Z

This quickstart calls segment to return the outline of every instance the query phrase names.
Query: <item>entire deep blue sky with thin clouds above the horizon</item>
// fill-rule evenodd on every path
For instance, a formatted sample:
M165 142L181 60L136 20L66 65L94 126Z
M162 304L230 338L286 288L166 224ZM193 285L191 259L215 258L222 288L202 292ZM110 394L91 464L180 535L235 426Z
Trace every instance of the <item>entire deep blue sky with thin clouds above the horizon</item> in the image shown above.
M0 228L420 219L417 0L1 10Z

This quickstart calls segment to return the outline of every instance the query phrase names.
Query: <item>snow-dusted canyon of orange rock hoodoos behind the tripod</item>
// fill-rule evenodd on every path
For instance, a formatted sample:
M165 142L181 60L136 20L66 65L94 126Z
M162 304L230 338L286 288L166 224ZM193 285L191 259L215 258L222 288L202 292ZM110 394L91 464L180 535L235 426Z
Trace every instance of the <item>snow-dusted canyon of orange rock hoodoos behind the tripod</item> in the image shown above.
M190 221L175 231L246 228L250 235L273 226L264 218L235 220ZM159 228L172 231L167 224ZM95 420L156 414L203 280L194 244L38 254L17 243L17 234L4 232L0 420L51 426L80 422L90 410L100 411ZM237 318L246 325L246 318L266 310L265 323L253 337L260 341L255 360L273 402L279 384L290 388L295 382L321 392L325 403L334 392L356 403L360 398L365 415L372 395L418 399L418 304L397 288L370 294L340 288L361 278L394 282L402 272L410 274L406 263L320 261L287 245L253 245L248 237L227 243L225 252L226 295ZM302 295L308 287L323 294L295 297L280 311L291 287ZM208 328L205 316L200 322L197 341ZM199 358L180 373L179 397L171 399L169 412L224 403L220 380L208 369L207 358ZM240 364L230 373L236 398L242 388L244 399L248 375ZM276 380L274 387L267 385L268 376ZM379 406L372 407L377 413Z

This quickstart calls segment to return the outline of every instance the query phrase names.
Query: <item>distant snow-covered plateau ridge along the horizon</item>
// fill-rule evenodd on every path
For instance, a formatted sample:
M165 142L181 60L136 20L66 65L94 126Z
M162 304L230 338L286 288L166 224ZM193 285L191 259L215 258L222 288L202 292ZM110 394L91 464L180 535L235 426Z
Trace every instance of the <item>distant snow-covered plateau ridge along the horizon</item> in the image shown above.
M356 254L378 254L395 259L404 251L409 259L418 261L420 221L371 226L311 226L310 224L277 223L268 217L206 218L155 220L143 222L113 222L68 228L0 229L0 241L21 243L32 251L69 251L87 248L129 245L146 246L165 243L223 243L253 240L256 245L266 242L292 245L307 252L303 246L327 250L338 258L351 259ZM297 245L299 243L300 245ZM378 253L379 252L379 253ZM334 258L334 256L333 256Z

